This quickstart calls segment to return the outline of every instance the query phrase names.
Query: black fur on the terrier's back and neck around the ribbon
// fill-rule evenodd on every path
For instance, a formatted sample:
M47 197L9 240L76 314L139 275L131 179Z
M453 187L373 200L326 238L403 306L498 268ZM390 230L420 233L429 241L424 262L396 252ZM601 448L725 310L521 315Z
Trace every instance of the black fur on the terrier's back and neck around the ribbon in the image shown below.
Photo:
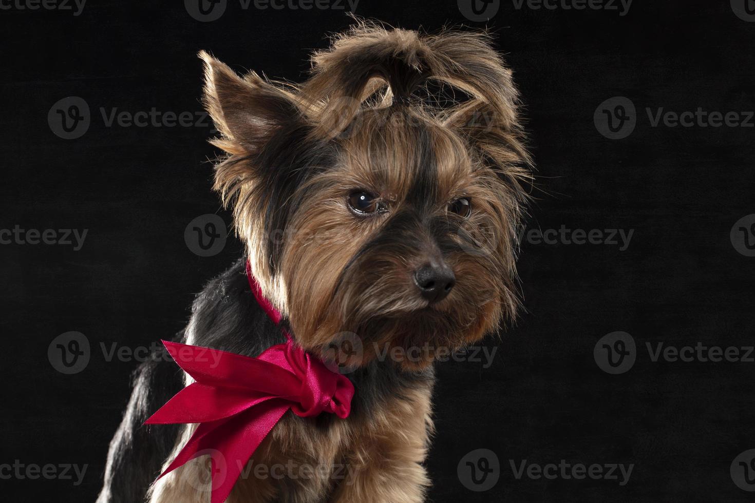
M248 284L245 262L239 260L197 296L188 327L174 341L256 357L270 346L285 342L285 335L257 304ZM390 361L374 360L348 377L356 388L352 414L369 415L385 400L402 396L403 390L433 382L433 370L404 373ZM110 443L97 503L145 500L149 486L159 476L176 443L180 427L143 423L183 384L183 372L165 358L164 349L136 370L131 400Z

